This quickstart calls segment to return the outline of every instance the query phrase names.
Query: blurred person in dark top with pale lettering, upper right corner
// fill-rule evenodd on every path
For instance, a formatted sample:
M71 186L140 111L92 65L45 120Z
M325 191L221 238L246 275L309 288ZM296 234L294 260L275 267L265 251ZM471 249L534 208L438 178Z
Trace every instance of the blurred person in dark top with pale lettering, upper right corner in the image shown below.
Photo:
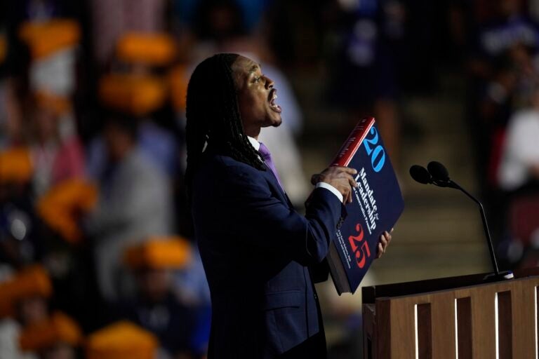
M468 62L470 126L477 144L479 179L491 184L496 170L489 165L499 163L497 138L503 137L512 108L522 104L519 98L529 97L539 49L538 25L525 15L522 1L496 0L494 5L477 2Z

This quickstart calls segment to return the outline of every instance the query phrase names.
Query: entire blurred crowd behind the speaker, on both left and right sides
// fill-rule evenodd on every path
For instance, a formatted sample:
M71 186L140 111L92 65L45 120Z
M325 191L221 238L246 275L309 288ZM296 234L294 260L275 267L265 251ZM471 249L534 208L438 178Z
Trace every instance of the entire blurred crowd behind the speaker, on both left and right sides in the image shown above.
M320 104L346 111L343 133L375 116L395 166L403 95L432 93L441 68L464 74L463 130L500 254L507 266L537 260L538 0L0 6L0 359L204 357L210 293L183 183L185 93L218 52L253 58L277 84L284 124L260 140L298 207L309 119L289 74L324 79Z

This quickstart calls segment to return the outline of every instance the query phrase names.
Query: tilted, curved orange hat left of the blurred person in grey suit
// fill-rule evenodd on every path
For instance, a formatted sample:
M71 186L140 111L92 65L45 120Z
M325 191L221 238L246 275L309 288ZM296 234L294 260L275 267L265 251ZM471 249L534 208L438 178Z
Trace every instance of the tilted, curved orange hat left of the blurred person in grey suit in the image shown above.
M67 179L39 198L36 208L41 219L69 242L82 238L78 215L97 203L98 189L84 179Z

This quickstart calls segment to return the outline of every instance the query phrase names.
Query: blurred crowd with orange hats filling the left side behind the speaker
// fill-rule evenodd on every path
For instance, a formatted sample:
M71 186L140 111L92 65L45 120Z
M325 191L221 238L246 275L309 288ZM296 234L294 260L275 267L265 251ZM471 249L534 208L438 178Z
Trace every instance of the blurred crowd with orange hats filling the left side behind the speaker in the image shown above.
M186 208L185 94L216 52L279 83L294 201L302 114L262 37L271 1L5 1L0 358L204 358L210 293ZM211 83L208 83L211 86Z

